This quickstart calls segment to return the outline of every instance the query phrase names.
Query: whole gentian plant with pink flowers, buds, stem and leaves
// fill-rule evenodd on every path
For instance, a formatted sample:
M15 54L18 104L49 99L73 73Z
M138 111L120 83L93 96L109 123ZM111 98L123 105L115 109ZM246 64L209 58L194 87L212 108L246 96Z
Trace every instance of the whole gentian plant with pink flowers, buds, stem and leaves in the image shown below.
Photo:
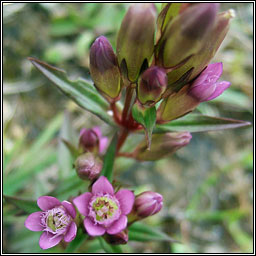
M173 241L141 222L164 207L162 195L135 194L116 182L114 160L122 156L155 161L189 144L191 132L249 124L190 113L230 86L221 79L222 63L210 63L234 17L231 10L218 10L218 3L165 3L157 15L153 3L131 5L117 35L116 51L104 35L93 42L92 82L71 81L64 71L29 58L64 94L115 131L110 139L99 127L90 127L81 130L75 149L72 142L65 142L76 158L78 177L89 186L70 202L50 196L38 199L42 211L29 215L25 227L43 231L42 249L62 240L76 244L89 236L99 237L107 252L115 252L113 245L127 243L136 228L144 234L150 230L158 241ZM144 133L145 139L132 152L123 151L126 139L135 133Z

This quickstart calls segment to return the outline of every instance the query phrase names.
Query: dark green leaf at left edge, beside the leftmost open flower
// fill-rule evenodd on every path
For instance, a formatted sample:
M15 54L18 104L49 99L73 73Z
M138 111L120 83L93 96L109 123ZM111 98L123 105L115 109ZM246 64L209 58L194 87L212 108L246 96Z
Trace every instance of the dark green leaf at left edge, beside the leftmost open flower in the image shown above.
M26 200L7 195L4 195L4 199L6 203L15 205L17 208L23 210L25 213L33 213L40 211L40 208L37 206L36 201Z

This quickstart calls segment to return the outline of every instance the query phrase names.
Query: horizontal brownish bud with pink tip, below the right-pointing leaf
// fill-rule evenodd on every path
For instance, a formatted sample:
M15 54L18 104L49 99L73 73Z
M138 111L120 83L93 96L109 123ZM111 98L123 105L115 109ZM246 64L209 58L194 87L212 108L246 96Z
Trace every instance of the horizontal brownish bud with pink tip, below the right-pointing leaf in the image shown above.
M143 141L135 150L135 158L140 161L159 160L185 147L191 138L189 132L153 134L150 150L147 149L147 144Z

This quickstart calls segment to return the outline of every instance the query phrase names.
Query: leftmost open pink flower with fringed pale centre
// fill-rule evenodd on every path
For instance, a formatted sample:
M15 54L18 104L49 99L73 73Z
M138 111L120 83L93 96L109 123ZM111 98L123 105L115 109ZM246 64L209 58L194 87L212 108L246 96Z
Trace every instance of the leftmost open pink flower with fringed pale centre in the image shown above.
M76 237L76 210L70 202L60 202L52 196L41 196L37 205L42 211L30 214L24 224L31 231L44 231L39 239L42 249L51 248L62 239L71 242Z

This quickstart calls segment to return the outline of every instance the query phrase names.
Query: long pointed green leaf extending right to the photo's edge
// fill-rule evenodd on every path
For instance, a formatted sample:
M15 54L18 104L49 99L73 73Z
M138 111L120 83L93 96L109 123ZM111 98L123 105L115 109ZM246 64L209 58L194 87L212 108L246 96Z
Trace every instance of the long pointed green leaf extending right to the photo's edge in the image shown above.
M205 132L238 128L250 125L250 122L230 118L220 118L190 114L188 116L173 120L166 124L156 125L154 133L165 133L171 131Z

